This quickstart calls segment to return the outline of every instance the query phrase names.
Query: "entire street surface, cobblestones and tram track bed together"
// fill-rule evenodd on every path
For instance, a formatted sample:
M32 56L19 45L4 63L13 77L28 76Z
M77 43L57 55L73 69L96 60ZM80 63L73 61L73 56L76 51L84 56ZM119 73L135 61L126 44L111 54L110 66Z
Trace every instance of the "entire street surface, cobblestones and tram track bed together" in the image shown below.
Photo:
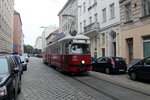
M18 100L150 100L148 89L138 88L140 85L148 88L148 84L136 85L138 82L126 76L93 71L68 76L44 65L41 58L31 57Z

